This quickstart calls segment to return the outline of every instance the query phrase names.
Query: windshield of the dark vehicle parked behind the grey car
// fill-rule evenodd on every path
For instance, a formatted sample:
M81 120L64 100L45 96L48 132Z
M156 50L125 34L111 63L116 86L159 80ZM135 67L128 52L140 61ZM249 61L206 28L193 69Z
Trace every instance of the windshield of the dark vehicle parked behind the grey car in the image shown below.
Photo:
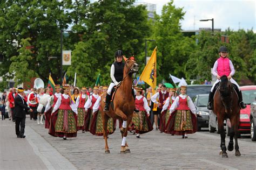
M211 88L212 88L211 86L188 86L187 95L193 98L196 95L209 94L211 91Z

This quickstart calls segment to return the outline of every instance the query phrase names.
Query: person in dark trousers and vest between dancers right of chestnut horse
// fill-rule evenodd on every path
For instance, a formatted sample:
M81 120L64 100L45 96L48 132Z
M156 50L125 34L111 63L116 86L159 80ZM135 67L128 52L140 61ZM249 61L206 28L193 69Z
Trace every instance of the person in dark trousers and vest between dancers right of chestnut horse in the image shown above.
M156 130L157 130L157 124L158 124L158 116L160 115L162 109L163 109L163 105L164 105L164 102L165 100L169 97L169 93L167 93L166 91L166 86L165 84L163 84L161 86L161 91L157 92L156 94L154 94L151 98L151 101L153 103L156 103L158 104L158 107L157 107L157 112L154 112L156 115L154 115L154 123L156 124ZM159 98L159 102L157 101L157 98ZM161 120L160 120L160 124L159 126L161 125ZM160 132L163 132L160 130Z

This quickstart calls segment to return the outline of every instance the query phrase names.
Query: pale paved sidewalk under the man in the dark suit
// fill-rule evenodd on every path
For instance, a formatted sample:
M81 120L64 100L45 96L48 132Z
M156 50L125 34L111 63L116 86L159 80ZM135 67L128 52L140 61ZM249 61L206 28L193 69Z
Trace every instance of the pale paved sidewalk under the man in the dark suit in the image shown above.
M0 121L0 169L77 169L28 125L25 136L16 137L14 122Z

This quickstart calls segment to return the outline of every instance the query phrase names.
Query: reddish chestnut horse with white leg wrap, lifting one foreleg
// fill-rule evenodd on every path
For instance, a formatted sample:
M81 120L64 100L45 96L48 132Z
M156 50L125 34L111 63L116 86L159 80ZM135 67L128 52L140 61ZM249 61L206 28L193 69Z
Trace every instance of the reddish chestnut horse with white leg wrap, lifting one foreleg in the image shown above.
M110 103L108 112L104 111L106 94L102 96L100 101L100 112L102 113L103 121L103 135L105 139L105 153L110 153L109 146L107 145L107 121L110 117L113 119L121 119L126 121L126 128L121 128L122 133L122 146L121 153L130 153L130 149L126 143L127 128L129 127L133 111L135 108L135 101L132 95L132 74L138 72L139 65L133 57L125 61L123 80L118 84L116 94L113 98L113 108Z

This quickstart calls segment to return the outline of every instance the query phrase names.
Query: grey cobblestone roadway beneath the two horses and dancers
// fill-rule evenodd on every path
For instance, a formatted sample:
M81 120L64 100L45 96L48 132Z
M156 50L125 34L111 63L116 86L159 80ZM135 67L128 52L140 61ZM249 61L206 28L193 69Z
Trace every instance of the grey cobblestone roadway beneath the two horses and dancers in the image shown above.
M153 130L142 134L140 139L129 133L127 143L131 153L120 154L122 138L117 129L108 140L111 153L105 154L103 137L79 131L77 138L63 140L50 136L35 121L27 119L26 125L78 169L256 169L256 143L250 139L239 139L240 157L228 151L229 158L221 158L217 134L197 132L181 139Z

